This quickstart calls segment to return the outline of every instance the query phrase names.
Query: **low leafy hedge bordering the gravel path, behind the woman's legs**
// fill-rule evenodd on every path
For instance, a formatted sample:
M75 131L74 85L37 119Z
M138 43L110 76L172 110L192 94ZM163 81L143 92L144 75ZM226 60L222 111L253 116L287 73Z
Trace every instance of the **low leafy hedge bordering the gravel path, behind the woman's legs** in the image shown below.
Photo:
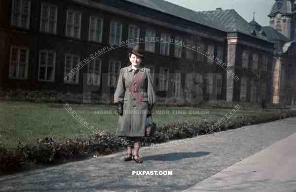
M166 123L157 128L155 135L145 138L145 142L163 143L170 140L192 138L192 135L204 135L213 131L234 129L244 125L258 124L282 118L296 116L296 111L282 110L262 115L239 115L229 118L219 127L213 125L218 119L185 120L183 122ZM105 132L110 134L109 132ZM16 149L7 150L0 146L0 170L4 172L18 171L26 163L50 164L63 162L78 157L80 154L114 154L125 147L98 134L69 139L64 143L54 138L38 139L33 144L19 142Z

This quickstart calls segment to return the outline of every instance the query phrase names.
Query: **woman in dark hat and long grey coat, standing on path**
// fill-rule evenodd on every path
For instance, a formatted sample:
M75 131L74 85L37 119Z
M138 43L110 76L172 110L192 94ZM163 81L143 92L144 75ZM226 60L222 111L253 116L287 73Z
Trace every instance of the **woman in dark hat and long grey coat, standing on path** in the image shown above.
M117 103L119 111L116 134L118 137L126 137L128 144L123 161L132 160L133 146L133 159L137 163L143 162L139 157L140 143L143 142L146 121L155 103L150 70L140 68L143 58L142 48L136 45L129 52L130 65L120 69L114 93L114 103Z

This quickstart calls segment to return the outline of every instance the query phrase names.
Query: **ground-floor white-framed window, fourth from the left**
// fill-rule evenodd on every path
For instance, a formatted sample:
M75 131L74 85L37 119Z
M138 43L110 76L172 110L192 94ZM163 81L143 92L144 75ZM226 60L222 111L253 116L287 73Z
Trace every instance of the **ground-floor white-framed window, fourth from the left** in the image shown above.
M87 64L87 84L100 86L102 60L100 58L94 58Z

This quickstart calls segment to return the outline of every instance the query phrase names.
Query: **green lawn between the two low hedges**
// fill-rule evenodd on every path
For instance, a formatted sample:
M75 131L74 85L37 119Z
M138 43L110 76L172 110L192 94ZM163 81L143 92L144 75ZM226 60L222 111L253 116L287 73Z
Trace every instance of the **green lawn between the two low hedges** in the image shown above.
M24 143L37 141L38 138L54 137L56 141L63 142L66 139L81 134L93 134L78 120L76 120L63 104L28 103L28 102L0 102L0 142L7 148L17 146L17 141ZM114 114L115 106L108 105L77 105L69 104L70 107L84 118L89 124L100 130L114 132L118 122L118 115ZM112 114L95 114L96 110L111 110ZM157 110L168 110L169 114L156 115ZM173 114L174 110L186 111L186 114ZM209 114L189 114L189 110L207 110L188 107L155 107L153 120L158 125L167 122L182 121L185 119L200 118L214 119L229 115L231 109L208 109ZM238 110L237 115L253 115L263 113L260 111ZM74 115L75 116L75 115ZM79 117L77 117L79 118Z

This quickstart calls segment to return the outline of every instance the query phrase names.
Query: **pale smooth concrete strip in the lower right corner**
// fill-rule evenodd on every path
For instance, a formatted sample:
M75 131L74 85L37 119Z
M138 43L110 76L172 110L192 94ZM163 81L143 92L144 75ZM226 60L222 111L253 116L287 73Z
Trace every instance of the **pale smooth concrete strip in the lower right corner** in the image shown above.
M296 133L184 192L296 192Z

